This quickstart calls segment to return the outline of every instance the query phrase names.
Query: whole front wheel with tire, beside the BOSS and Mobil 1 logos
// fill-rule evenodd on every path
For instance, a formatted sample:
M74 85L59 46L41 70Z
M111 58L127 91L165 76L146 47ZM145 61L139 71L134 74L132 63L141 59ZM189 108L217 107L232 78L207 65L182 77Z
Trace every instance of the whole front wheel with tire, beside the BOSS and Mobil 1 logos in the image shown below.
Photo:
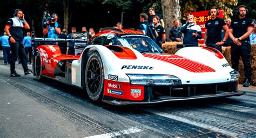
M97 51L89 53L85 67L85 88L92 102L100 102L104 92L104 67Z

